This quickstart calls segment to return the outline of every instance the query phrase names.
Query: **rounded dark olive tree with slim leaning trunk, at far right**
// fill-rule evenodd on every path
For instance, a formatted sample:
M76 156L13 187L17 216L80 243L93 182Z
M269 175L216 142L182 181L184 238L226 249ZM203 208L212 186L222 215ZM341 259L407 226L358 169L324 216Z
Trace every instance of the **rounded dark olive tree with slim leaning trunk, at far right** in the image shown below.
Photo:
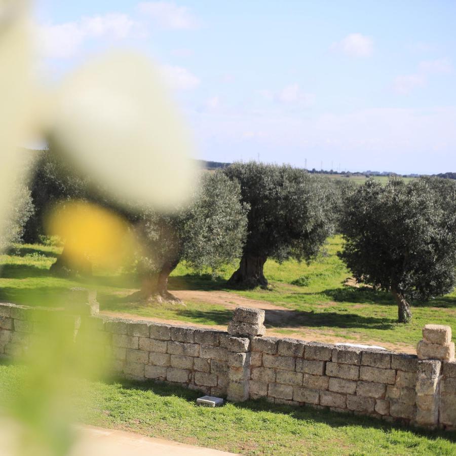
M410 300L449 292L455 283L456 192L449 182L368 179L344 201L339 252L359 282L390 291L398 320Z

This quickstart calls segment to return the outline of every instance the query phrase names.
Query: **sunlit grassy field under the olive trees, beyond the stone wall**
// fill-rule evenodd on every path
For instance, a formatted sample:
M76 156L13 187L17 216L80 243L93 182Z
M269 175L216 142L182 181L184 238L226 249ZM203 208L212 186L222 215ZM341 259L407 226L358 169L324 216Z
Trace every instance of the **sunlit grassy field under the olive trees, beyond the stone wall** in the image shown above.
M270 290L239 291L225 288L225 280L234 267L226 267L220 278L209 274L195 274L185 264L179 264L170 278L170 290L205 290L229 292L236 303L237 296L267 301L280 306L278 322L270 330L289 335L331 335L334 338L408 344L415 346L421 339L426 323L450 325L456 333L456 293L440 296L429 302L413 302L413 321L397 324L397 306L389 293L367 287L344 286L350 277L343 262L336 256L341 248L340 237L328 240L323 252L311 264L286 261L279 264L268 260L265 275L270 279ZM137 314L143 317L178 320L205 325L226 325L232 310L207 300L187 300L186 306L144 305L129 302L128 294L138 282L131 274L107 275L96 270L91 282L56 278L49 274L59 248L42 245L18 245L9 254L0 256L0 300L25 305L49 306L60 291L72 286L92 286L98 291L101 310ZM215 295L215 294L214 294ZM277 320L277 318L276 318Z

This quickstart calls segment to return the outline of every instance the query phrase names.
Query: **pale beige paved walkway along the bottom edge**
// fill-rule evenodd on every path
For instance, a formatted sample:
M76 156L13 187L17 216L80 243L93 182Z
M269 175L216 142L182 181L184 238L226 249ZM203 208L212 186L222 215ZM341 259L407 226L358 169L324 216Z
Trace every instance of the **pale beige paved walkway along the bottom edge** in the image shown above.
M71 456L233 456L234 453L144 437L133 432L95 426L78 427L81 439Z

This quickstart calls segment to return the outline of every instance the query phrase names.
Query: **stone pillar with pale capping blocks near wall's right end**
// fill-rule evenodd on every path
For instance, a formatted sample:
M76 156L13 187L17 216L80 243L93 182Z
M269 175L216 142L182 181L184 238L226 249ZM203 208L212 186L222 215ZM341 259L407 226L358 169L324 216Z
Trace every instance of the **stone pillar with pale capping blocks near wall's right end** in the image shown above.
M443 325L426 325L423 339L416 347L418 361L416 378L416 423L436 426L439 422L439 382L442 361L454 359L451 328Z

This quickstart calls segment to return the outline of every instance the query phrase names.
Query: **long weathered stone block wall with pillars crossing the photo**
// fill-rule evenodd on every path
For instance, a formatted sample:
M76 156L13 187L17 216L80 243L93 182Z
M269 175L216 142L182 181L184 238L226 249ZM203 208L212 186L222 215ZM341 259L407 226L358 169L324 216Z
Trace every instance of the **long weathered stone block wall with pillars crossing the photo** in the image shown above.
M49 312L0 305L0 354L27 350ZM88 328L101 333L111 369L129 378L166 381L233 401L265 397L276 404L456 428L456 363L448 327L425 327L418 353L426 359L420 359L265 337L264 311L257 309L236 309L228 332L67 312L61 318L76 339L90 337Z

